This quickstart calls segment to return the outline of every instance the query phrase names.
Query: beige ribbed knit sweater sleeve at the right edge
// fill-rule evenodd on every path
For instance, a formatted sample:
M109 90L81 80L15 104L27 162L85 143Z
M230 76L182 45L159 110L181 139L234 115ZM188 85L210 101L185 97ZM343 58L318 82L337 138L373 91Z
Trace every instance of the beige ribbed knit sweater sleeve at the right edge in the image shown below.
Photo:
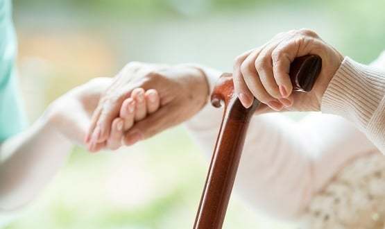
M377 60L372 66L361 65L346 57L323 95L321 110L351 121L385 153L383 64Z

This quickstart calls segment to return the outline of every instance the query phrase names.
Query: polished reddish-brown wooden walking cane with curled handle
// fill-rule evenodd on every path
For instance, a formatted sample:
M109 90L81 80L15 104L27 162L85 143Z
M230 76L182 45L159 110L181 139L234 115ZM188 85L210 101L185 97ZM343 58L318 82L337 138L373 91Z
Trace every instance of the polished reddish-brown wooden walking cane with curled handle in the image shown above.
M316 82L321 65L319 56L296 58L291 63L289 74L293 90L309 92ZM232 75L223 74L216 83L211 101L217 108L223 101L225 111L200 198L194 229L222 228L248 124L259 105L259 101L254 99L253 105L246 109L233 92Z

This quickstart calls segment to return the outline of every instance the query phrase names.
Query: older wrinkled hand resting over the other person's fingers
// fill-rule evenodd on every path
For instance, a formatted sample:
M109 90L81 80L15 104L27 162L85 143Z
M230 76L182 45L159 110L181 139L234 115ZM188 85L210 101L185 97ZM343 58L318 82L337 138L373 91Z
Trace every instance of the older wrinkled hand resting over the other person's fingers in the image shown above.
M186 65L153 65L131 62L114 78L92 115L86 142L104 142L110 135L112 121L119 117L123 101L135 88L154 89L160 108L135 123L123 137L130 145L176 126L192 117L205 105L209 87L202 71Z

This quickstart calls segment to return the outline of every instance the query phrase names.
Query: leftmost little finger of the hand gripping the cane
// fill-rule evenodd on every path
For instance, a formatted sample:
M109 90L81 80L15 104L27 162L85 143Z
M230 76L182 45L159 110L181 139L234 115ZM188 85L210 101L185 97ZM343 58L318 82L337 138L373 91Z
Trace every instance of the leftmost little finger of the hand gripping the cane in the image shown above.
M234 82L234 93L237 94L239 101L241 101L242 105L245 108L249 108L253 103L254 96L248 89L245 80L243 80L241 74L241 65L243 61L249 56L252 51L247 51L243 53L241 56L235 58L234 61L234 69L232 73L232 80Z

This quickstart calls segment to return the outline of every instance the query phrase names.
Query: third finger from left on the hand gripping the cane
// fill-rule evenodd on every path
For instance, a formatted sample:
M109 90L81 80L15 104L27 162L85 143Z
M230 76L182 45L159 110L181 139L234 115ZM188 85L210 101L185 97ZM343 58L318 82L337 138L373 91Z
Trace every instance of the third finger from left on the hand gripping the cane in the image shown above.
M268 94L275 99L280 99L282 97L280 90L278 89L278 85L275 82L273 74L273 60L271 59L271 53L278 44L279 42L272 42L271 44L268 44L268 46L262 49L254 62L255 69L261 79L262 85L264 86L266 92L268 92Z

